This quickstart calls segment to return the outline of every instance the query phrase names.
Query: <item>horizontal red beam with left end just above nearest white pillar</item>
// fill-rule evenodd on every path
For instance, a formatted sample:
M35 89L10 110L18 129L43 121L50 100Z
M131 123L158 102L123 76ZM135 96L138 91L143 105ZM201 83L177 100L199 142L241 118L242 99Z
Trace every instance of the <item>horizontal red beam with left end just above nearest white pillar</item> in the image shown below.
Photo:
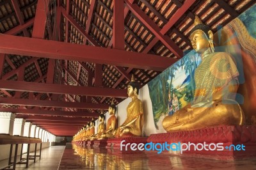
M14 109L0 107L1 112L13 112L17 114L35 114L35 115L51 115L51 116L76 116L76 117L99 117L98 112L70 112L70 111L45 111L40 109Z

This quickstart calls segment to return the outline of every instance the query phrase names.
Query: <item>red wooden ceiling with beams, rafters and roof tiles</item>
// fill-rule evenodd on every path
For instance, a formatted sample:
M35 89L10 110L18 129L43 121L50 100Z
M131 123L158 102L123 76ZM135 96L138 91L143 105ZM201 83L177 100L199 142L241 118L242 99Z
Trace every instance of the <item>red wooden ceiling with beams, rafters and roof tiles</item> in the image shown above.
M253 4L0 0L0 111L72 136L126 98L132 74L142 87L191 50L195 15L216 32Z

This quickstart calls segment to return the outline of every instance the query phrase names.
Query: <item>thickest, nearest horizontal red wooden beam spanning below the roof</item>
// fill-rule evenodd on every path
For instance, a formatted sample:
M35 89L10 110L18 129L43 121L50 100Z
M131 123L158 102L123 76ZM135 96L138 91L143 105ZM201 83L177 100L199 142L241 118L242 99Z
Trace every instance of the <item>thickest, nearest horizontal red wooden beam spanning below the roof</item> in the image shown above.
M21 36L0 35L0 53L67 59L163 71L177 61L152 54L106 49ZM122 57L120 57L122 56Z

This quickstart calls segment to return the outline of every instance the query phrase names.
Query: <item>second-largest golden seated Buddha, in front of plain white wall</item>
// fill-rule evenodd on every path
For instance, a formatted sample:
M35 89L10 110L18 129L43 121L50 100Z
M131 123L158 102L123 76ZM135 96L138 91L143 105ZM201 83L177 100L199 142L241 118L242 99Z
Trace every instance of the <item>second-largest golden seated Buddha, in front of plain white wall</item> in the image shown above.
M117 128L114 133L115 137L132 137L141 136L143 120L143 107L142 102L138 99L139 84L132 80L127 87L128 97L132 98L132 101L127 107L127 117L124 123Z

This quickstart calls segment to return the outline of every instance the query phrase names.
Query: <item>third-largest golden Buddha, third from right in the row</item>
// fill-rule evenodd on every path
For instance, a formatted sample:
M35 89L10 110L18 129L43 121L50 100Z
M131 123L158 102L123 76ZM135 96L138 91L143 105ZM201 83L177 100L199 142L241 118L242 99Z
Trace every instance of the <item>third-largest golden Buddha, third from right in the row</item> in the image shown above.
M108 107L108 112L109 112L109 118L108 118L108 122L107 122L107 128L106 130L102 133L101 135L101 139L107 139L107 138L111 138L111 137L115 137L113 135L113 133L116 130L116 125L117 125L117 120L116 120L116 106L112 100L111 105Z

